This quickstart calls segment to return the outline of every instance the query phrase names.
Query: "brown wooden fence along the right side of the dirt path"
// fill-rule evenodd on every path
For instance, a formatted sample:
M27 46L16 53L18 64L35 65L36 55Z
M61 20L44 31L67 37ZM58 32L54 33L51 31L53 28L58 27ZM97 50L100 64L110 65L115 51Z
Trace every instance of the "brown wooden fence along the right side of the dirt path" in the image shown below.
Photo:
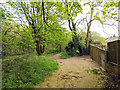
M107 50L104 45L90 45L90 55L105 70L120 73L120 40L109 42Z

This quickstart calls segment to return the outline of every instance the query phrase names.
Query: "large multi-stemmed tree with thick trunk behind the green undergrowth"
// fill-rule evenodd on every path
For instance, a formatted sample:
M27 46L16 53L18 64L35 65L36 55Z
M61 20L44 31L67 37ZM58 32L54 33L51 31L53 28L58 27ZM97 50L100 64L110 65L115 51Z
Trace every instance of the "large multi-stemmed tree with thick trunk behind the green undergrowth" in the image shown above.
M61 20L56 16L54 2L9 2L9 5L16 10L17 18L31 30L32 36L36 43L36 51L41 55L45 51L48 35L54 31L61 30ZM51 13L53 12L53 13ZM28 23L28 25L26 24ZM23 25L23 24L22 24ZM52 38L55 39L55 38Z

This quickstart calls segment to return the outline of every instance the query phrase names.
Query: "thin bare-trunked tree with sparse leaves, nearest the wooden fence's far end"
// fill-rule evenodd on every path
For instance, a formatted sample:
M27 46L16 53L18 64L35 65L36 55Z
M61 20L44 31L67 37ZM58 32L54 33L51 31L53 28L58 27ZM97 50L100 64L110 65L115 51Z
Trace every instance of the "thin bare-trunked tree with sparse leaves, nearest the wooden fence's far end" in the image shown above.
M105 23L107 19L113 18L117 20L117 13L115 8L118 7L118 1L87 1L84 3L84 6L89 6L90 11L86 13L86 18L83 18L83 21L86 21L87 26L87 35L86 35L86 51L88 52L89 39L90 39L90 28L93 21L99 21L103 25L114 25ZM98 9L100 8L100 9ZM102 9L101 9L102 8ZM115 13L113 13L115 12ZM89 15L89 18L88 18ZM101 16L100 16L101 15Z

